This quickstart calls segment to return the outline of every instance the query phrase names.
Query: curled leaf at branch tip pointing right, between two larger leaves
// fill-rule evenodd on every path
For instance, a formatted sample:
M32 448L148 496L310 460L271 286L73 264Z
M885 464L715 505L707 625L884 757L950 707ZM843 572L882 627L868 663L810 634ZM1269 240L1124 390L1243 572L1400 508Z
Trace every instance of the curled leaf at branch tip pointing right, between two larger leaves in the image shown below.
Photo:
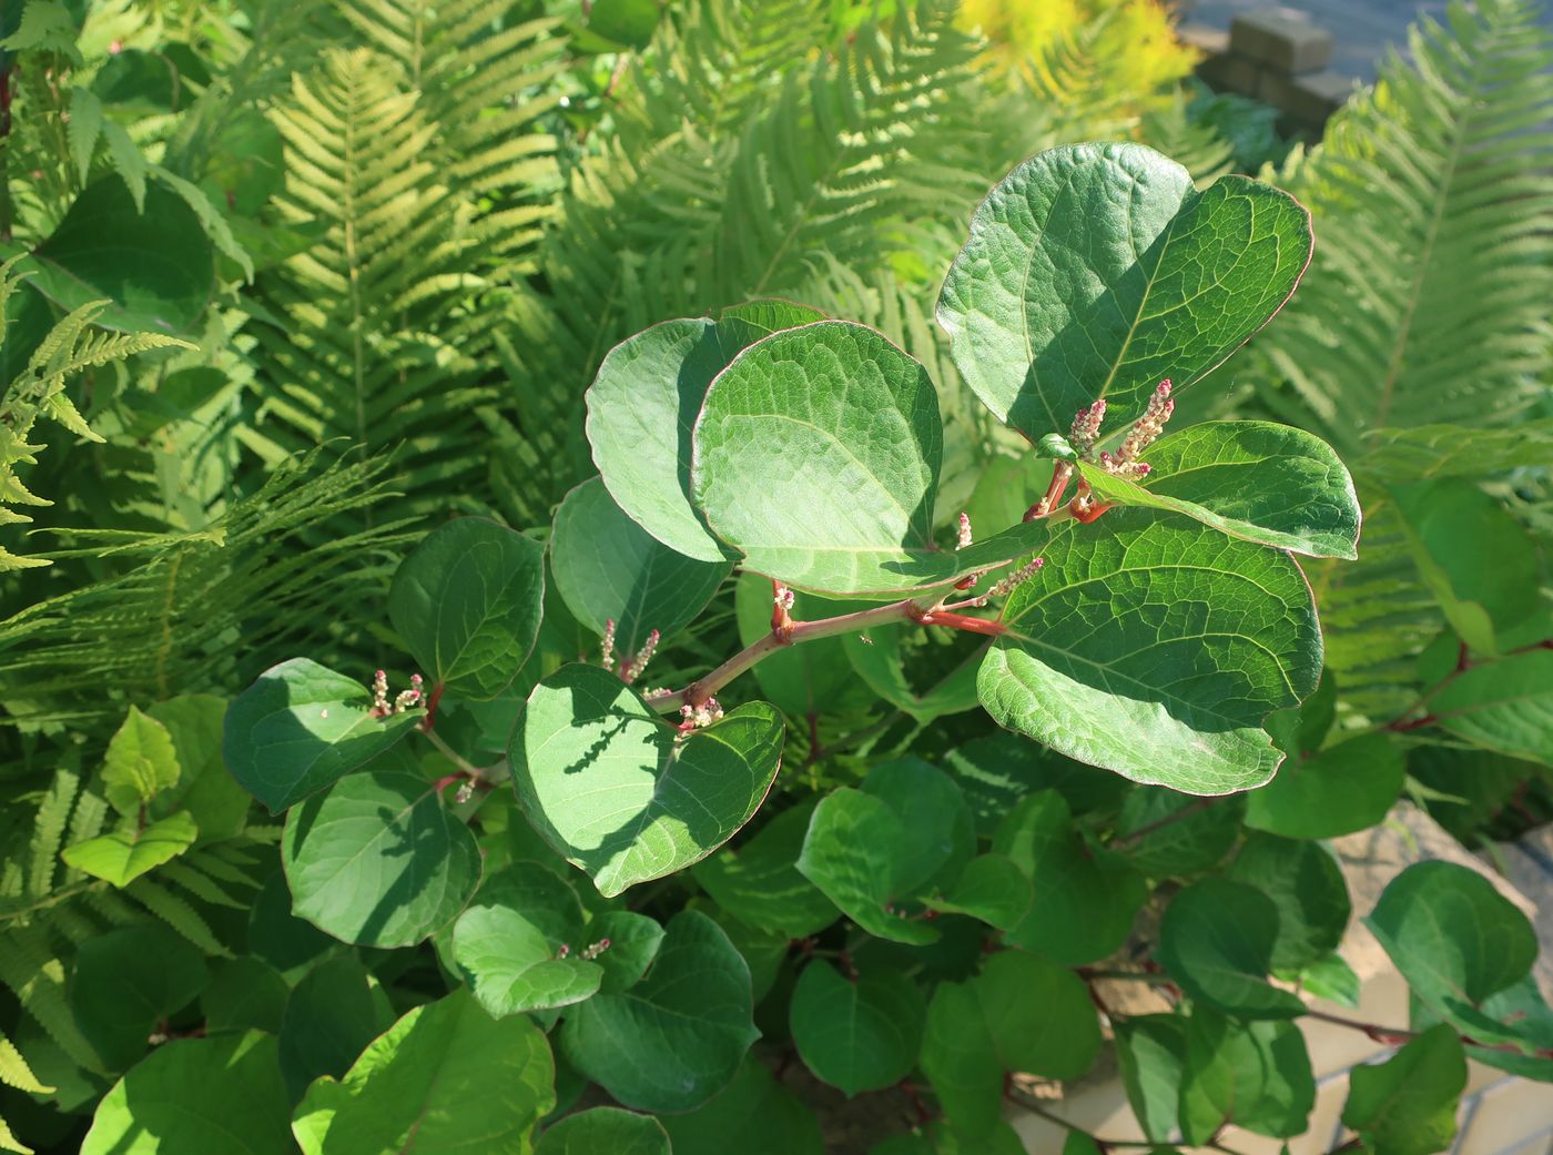
M1205 421L1145 450L1141 483L1081 463L1104 500L1169 509L1230 537L1312 557L1357 557L1359 495L1317 436L1269 421Z

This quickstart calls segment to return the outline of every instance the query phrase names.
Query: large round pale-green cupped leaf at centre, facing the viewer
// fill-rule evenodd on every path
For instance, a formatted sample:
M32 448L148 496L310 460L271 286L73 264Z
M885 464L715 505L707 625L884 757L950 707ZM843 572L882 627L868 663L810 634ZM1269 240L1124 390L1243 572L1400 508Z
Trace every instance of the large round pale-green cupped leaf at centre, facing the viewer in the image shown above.
M696 419L691 492L745 568L818 593L924 590L1045 539L1028 523L940 550L941 458L927 371L873 329L820 321L752 345L711 383Z

